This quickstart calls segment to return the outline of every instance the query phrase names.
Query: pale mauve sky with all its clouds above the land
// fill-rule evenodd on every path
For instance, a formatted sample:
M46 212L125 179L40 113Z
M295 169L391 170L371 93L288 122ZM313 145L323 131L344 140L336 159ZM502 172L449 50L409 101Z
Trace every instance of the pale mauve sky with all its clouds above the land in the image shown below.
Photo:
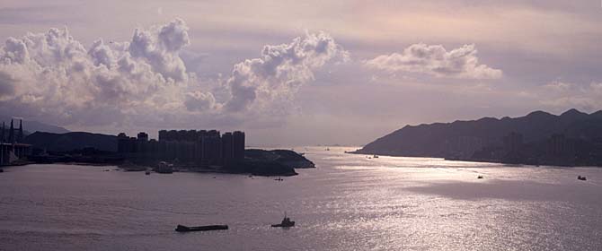
M594 1L5 1L0 115L104 134L363 145L602 109Z

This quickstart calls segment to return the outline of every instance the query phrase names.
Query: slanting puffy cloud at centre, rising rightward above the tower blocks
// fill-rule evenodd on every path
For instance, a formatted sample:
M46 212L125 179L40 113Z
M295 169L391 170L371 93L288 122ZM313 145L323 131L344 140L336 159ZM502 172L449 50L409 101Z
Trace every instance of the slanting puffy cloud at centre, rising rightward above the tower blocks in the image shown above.
M226 109L265 108L274 101L291 100L301 85L314 80L316 68L348 59L349 52L324 32L307 33L288 44L265 46L261 57L235 65L227 80L232 97Z

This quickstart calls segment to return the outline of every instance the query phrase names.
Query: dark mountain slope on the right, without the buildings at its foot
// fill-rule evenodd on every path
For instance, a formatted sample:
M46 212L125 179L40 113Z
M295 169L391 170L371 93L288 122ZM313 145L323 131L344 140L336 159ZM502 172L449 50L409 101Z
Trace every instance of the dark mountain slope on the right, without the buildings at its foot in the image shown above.
M545 143L555 135L574 142L597 145L602 139L602 111L586 114L570 109L560 116L535 111L525 117L483 117L471 121L406 125L368 143L356 151L394 156L472 159L483 149L503 148L504 137L517 133L520 143L532 144L532 151L547 151ZM572 143L573 151L575 143ZM534 150L535 149L535 150ZM596 151L599 151L598 149ZM503 152L500 154L504 154ZM493 157L491 157L493 158ZM497 157L503 159L502 157ZM486 159L486 158L485 158Z

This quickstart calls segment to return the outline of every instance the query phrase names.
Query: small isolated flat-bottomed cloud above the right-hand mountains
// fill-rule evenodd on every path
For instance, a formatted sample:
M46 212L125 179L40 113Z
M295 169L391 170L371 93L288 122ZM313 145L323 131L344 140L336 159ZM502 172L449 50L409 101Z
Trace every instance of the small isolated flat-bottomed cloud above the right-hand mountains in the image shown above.
M501 70L480 65L474 45L447 51L440 45L413 44L401 53L376 56L367 60L368 68L386 72L429 74L462 79L499 79Z

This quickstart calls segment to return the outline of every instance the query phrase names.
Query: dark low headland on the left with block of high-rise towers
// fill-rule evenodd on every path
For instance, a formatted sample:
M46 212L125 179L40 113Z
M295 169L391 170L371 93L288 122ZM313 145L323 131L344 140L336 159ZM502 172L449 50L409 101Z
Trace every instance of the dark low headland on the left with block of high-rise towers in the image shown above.
M15 130L15 132L19 132ZM12 134L11 134L12 135ZM117 165L129 171L153 169L220 172L258 176L294 176L295 169L314 168L302 154L288 150L244 148L244 133L217 130L161 130L159 139L86 132L64 134L35 132L23 138L0 136L2 156L14 163L83 163ZM4 158L6 159L6 158ZM4 165L10 165L3 159Z

